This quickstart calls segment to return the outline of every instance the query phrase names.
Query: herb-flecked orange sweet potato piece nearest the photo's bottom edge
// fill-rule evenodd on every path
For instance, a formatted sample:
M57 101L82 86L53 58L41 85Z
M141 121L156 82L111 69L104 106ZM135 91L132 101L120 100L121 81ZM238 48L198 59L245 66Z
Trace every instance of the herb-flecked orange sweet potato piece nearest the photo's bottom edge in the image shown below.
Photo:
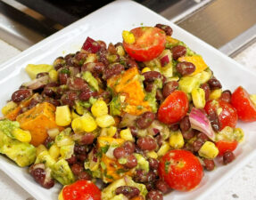
M111 159L108 156L103 155L102 162L105 165L105 168L102 167L104 182L112 182L114 180L119 180L125 175L132 175L132 170L128 171L125 169L116 159Z

